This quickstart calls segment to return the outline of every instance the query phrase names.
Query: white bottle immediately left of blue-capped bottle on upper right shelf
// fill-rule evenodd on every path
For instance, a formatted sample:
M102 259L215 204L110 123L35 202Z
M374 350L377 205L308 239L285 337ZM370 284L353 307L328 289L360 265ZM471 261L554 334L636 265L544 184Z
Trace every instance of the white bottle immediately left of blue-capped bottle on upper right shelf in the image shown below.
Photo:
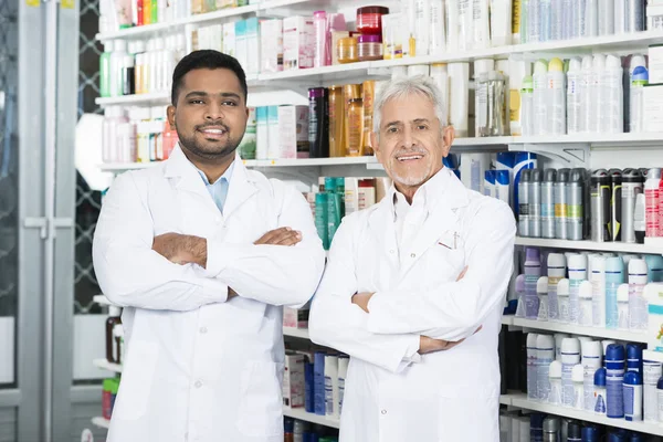
M606 69L601 74L601 88L606 106L600 131L621 134L624 131L623 70L618 56L608 55L606 59Z

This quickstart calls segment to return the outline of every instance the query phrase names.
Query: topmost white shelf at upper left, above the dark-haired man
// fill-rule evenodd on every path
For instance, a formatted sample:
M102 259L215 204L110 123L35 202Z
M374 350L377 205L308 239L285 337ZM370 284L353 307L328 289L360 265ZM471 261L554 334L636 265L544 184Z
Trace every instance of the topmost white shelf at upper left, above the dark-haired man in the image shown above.
M228 8L222 9L220 11L208 12L202 14L192 14L185 19L173 20L167 23L156 23L156 24L146 24L143 27L134 27L128 29L123 29L115 32L108 32L105 34L96 34L96 40L98 41L108 41L108 40L119 40L119 39L136 39L136 38L146 38L158 34L172 34L177 32L178 29L183 29L187 24L201 24L209 23L214 21L220 21L230 17L238 17L243 14L255 13L260 9L259 4L250 4L246 7L240 8Z

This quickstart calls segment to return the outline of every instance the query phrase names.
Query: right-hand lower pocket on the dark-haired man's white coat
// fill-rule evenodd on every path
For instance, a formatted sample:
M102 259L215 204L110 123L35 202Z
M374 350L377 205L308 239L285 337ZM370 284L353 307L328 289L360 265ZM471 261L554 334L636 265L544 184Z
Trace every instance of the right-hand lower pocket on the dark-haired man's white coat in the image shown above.
M238 428L252 438L269 438L283 431L283 364L250 361L241 379Z

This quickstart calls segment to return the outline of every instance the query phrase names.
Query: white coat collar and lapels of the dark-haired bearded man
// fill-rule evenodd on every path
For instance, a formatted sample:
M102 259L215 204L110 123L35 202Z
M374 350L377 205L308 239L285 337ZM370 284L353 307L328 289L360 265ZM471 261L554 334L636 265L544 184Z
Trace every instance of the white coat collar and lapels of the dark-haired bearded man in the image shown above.
M249 176L246 167L242 162L239 154L235 154L233 165L233 171L228 188L228 197L225 199L225 204L223 206L224 218L230 217L235 209L242 206L242 203L244 203L244 201L253 193L257 192L255 180ZM170 154L170 158L166 160L165 177L179 178L179 181L176 183L178 189L207 196L210 203L214 208L217 207L209 196L204 181L200 179L198 169L189 161L179 144Z

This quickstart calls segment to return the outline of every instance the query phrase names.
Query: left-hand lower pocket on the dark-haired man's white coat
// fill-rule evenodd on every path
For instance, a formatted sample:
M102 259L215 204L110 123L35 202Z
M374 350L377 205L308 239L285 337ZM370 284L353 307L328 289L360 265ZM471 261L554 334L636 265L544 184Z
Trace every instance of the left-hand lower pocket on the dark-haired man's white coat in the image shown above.
M144 340L130 343L113 418L136 420L145 414L158 356L159 349L155 344Z

